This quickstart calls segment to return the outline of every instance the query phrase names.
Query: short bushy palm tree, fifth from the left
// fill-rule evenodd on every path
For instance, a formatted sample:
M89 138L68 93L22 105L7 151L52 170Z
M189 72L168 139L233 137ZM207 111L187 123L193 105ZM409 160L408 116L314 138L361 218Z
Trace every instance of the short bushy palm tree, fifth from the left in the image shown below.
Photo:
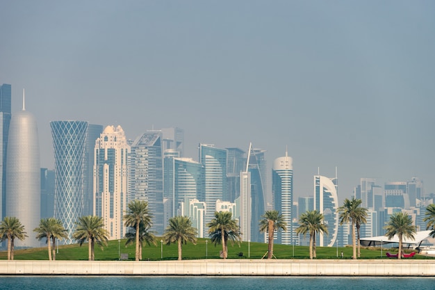
M169 225L163 234L163 241L165 245L171 243L178 243L178 259L181 260L181 245L186 244L188 241L197 244L198 231L192 227L192 220L188 216L174 216L169 219Z

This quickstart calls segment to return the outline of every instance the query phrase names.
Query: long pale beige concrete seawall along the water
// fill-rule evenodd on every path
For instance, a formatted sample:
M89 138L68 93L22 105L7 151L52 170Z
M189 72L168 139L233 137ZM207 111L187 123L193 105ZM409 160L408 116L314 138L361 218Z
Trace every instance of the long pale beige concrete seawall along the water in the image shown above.
M0 275L435 276L434 260L0 261Z

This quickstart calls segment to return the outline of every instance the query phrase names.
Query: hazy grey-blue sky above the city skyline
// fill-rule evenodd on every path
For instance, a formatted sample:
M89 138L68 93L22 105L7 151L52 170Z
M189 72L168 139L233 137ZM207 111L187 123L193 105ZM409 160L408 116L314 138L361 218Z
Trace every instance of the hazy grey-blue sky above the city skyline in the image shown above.
M198 143L293 158L339 200L361 177L420 177L435 192L434 1L0 0L0 84L49 122L118 125L134 139L180 127ZM270 168L268 169L270 170ZM270 177L270 175L269 175ZM269 179L270 182L270 179Z

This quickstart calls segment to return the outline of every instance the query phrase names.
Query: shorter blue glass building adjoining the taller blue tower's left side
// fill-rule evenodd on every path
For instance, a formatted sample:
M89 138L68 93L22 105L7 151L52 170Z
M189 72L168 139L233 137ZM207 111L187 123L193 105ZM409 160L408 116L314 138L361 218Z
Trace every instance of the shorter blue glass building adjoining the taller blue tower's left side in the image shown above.
M172 204L170 218L177 216L179 204L185 199L202 196L202 164L191 158L164 159L164 196Z

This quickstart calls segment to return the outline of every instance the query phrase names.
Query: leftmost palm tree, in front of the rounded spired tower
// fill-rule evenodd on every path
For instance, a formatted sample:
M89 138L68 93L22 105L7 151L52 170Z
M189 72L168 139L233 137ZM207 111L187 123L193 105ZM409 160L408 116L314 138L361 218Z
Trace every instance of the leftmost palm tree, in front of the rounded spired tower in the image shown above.
M24 225L15 216L6 216L0 223L0 241L8 240L8 260L14 259L14 240L26 239Z

